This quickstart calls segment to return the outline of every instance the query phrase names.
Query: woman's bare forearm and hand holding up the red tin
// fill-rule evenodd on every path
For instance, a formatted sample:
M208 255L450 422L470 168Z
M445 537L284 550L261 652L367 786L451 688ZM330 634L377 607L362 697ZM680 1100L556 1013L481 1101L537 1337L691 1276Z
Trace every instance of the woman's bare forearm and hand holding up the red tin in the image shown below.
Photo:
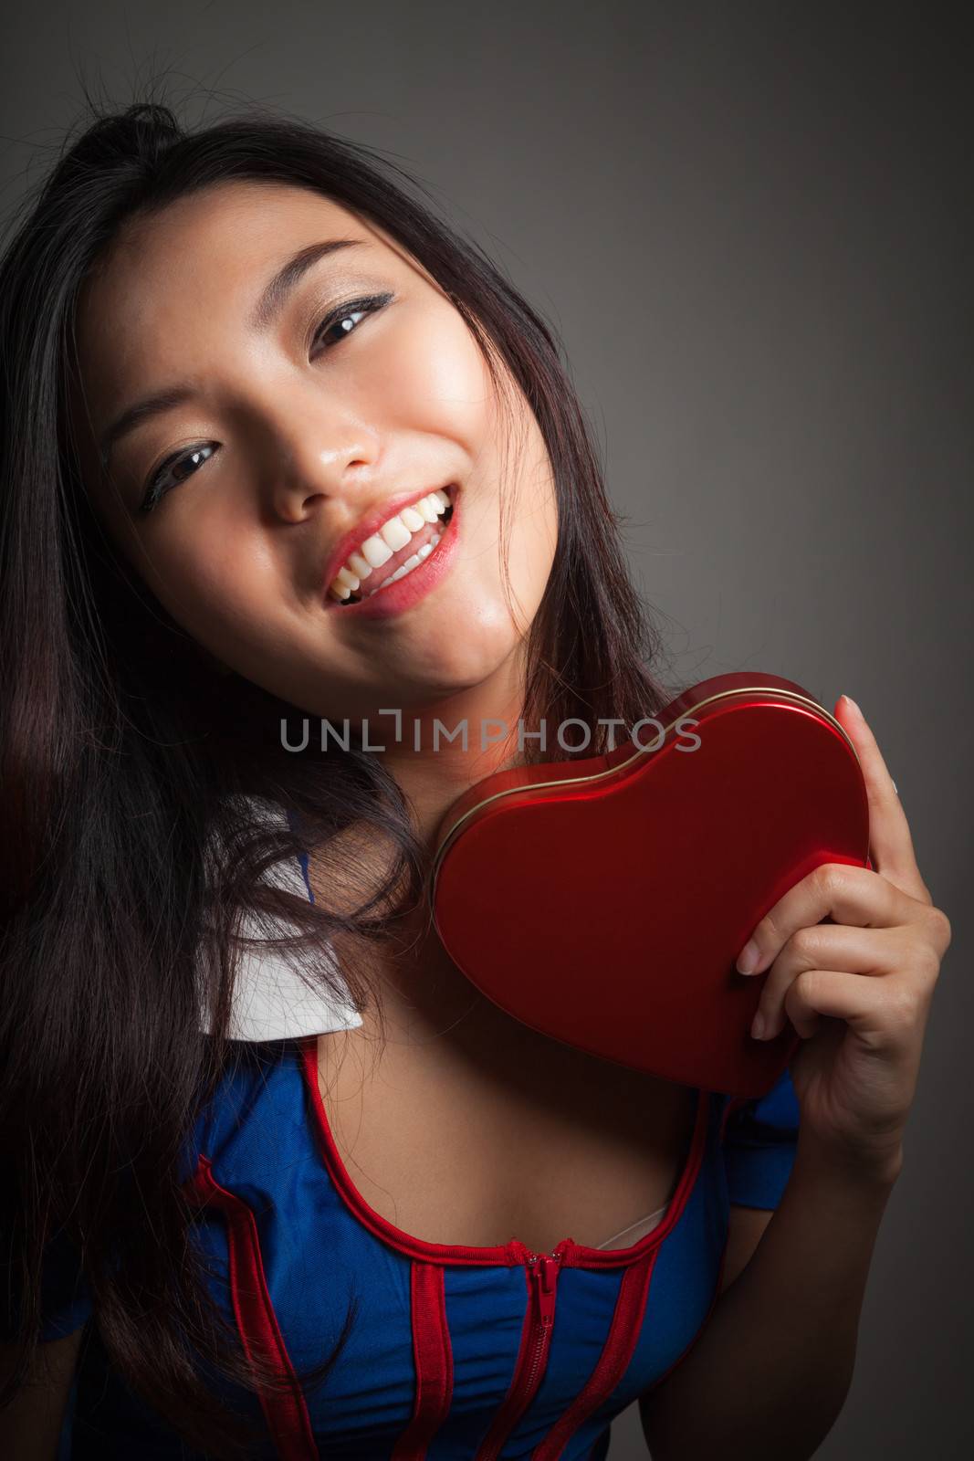
M748 977L764 980L762 1034L787 1017L803 1040L790 1067L797 1151L774 1213L745 1220L749 1258L739 1224L729 1252L743 1267L689 1357L640 1398L657 1461L806 1461L851 1385L951 925L920 877L876 738L847 695L835 716L863 768L872 869L816 868L758 923L748 941L756 958L745 961L748 945L740 951ZM822 925L827 915L834 922Z

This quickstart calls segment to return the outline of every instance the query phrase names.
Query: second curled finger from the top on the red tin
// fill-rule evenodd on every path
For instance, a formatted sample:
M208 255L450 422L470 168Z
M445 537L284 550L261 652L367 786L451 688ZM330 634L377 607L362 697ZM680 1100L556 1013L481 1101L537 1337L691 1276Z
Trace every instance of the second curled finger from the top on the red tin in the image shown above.
M752 1026L755 1039L771 1040L781 1033L789 989L808 969L888 974L902 966L902 958L901 929L850 928L845 923L816 923L815 928L799 929L764 977Z

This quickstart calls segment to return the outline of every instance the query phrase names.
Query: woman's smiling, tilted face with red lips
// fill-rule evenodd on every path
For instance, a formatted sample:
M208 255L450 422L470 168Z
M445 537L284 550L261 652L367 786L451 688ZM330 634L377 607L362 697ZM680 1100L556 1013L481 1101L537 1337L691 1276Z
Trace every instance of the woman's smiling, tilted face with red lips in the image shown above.
M352 247L305 257L258 311L289 260L336 240ZM502 678L553 561L551 462L521 393L498 399L450 300L375 225L279 183L209 187L124 228L77 345L96 511L204 650L336 723ZM445 532L419 506L383 530L442 488ZM358 605L329 587L352 552Z

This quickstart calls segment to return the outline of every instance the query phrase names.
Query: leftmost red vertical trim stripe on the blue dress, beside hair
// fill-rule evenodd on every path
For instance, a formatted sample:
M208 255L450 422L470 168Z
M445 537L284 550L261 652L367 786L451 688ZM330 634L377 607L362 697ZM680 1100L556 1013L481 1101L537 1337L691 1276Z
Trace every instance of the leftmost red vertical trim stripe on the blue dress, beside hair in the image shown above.
M318 1461L308 1405L270 1300L257 1220L241 1197L219 1185L210 1159L202 1153L187 1188L202 1207L213 1205L226 1218L231 1296L247 1357L254 1360L260 1353L263 1359L272 1359L277 1373L289 1385L289 1394L258 1391L277 1454L282 1461Z

